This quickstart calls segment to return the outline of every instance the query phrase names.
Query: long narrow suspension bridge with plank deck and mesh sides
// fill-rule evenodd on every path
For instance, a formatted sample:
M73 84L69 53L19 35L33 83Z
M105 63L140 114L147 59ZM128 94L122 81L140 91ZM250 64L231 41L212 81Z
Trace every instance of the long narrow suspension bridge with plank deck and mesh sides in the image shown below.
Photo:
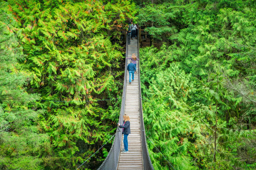
M131 40L130 45L126 40L125 57L131 57L135 53L139 58L138 43L139 37ZM129 153L121 153L121 149L124 148L123 135L122 130L118 128L108 156L98 170L154 170L148 154L144 130L139 60L136 65L137 73L131 84L129 84L129 74L127 74L128 63L130 63L130 59L125 60L125 77L119 123L123 124L124 114L127 114L131 119L131 134L128 135Z

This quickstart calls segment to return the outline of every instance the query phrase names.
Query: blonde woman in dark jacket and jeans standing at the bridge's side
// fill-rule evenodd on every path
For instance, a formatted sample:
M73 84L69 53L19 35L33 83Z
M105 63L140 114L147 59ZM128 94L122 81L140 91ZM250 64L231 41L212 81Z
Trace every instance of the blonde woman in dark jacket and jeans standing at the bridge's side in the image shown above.
M120 125L118 123L119 128L123 128L123 146L124 149L122 153L128 153L128 140L127 137L129 134L131 134L130 129L130 117L128 115L123 115L123 125Z

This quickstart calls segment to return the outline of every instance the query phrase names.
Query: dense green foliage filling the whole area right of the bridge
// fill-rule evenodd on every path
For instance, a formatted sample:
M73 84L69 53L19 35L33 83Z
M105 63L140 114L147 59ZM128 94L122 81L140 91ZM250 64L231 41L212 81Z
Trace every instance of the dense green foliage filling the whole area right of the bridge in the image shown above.
M166 1L137 17L166 43L140 51L149 138L177 170L255 169L256 3ZM147 142L154 168L172 169Z

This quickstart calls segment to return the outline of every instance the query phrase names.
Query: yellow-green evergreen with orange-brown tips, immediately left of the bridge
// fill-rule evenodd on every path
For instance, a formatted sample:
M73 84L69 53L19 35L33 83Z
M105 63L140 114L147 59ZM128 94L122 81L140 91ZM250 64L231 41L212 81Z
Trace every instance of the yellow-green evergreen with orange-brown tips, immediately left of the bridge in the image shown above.
M15 0L7 9L17 21L15 33L25 54L19 69L32 77L28 91L41 95L36 104L46 110L38 124L54 151L44 158L44 167L74 169L115 133L121 102L115 98L123 89L118 42L135 5L129 0ZM97 102L102 99L112 100ZM84 168L97 168L103 154Z

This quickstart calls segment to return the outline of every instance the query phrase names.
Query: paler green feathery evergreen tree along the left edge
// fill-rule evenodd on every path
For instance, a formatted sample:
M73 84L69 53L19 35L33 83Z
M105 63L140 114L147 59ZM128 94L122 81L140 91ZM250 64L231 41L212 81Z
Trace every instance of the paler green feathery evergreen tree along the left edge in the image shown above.
M39 170L41 157L51 152L49 136L38 126L44 110L35 106L40 96L26 92L31 77L17 69L25 55L13 33L15 20L2 9L0 25L0 169Z

